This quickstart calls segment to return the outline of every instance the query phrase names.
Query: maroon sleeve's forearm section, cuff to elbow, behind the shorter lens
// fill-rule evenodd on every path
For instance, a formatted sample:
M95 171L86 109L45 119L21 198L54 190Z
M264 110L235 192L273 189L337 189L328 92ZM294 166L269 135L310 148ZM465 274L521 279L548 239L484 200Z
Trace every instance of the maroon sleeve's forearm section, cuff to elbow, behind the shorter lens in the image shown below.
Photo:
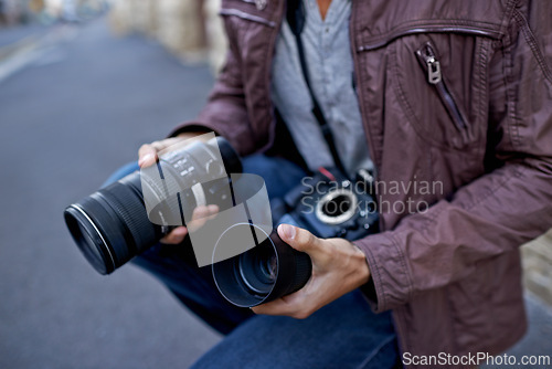
M385 310L461 280L478 261L512 251L551 225L552 165L528 159L355 243L367 255L376 309Z

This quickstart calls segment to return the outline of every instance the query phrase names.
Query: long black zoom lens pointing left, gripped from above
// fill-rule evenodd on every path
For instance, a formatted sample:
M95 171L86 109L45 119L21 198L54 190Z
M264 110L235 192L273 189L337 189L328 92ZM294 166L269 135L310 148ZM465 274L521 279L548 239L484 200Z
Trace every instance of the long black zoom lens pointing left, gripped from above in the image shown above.
M140 177L137 171L67 207L64 211L65 222L89 264L98 273L109 274L157 243L172 225L177 225L171 223L172 220L178 219L179 224L182 224L183 214L191 213L199 203L192 184L204 186L200 183L201 180L221 176L221 168L216 167L216 160L213 159L217 157L216 149L222 157L221 166L227 172L242 170L240 157L231 145L216 137L170 152L167 160L160 160L158 169L164 173L161 176L161 179L166 179L163 181L149 178L147 173ZM219 182L223 180L227 181L222 178ZM211 187L198 192L203 201L220 196L214 189L215 184L220 187L219 182L212 180L209 182ZM152 208L150 219L144 193L147 191L155 199L166 199L168 186L172 186L171 190L178 196ZM177 198L178 201L172 201Z

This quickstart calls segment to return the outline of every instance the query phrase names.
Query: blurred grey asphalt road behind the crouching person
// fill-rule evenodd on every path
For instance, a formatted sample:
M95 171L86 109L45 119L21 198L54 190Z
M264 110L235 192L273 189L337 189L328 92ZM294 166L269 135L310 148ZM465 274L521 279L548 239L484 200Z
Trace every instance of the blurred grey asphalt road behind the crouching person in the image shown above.
M103 20L39 36L0 61L0 368L185 368L220 337L138 268L96 274L62 212L193 118L209 68ZM527 302L530 333L510 352L552 355L552 315Z

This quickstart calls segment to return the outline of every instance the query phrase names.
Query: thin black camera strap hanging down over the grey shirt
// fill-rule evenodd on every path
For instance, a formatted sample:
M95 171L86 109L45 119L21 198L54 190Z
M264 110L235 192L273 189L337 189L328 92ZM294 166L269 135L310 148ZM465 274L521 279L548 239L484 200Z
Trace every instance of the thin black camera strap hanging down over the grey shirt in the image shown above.
M336 143L333 140L333 134L331 131L330 125L328 124L328 120L326 120L326 117L323 116L322 109L320 107L320 104L318 103L318 99L315 96L315 93L312 92L312 87L310 85L310 78L309 78L309 73L308 73L308 66L307 62L305 60L305 50L302 46L302 41L301 41L301 32L305 27L305 7L302 3L302 0L288 0L287 1L287 22L289 23L289 27L291 29L291 32L295 35L295 41L297 42L297 50L299 54L299 63L301 65L301 72L302 76L305 78L305 83L307 85L308 92L310 94L310 98L312 101L312 115L315 116L316 120L318 122L318 125L320 126L320 130L322 131L323 139L326 140L326 144L328 144L328 148L330 149L330 154L333 158L333 162L336 167L343 173L347 175L347 171L344 170L343 164L341 162L341 159L339 158L339 154L336 147Z

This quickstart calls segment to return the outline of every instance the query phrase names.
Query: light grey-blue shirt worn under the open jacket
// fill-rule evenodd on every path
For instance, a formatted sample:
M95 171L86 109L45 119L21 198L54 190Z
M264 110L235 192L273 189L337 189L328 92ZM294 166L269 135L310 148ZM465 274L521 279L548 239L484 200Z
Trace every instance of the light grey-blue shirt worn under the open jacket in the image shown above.
M372 169L353 87L353 61L349 40L350 0L332 0L322 20L316 0L304 0L301 40L309 78L328 124L339 157L349 176ZM312 102L301 72L297 43L284 21L276 41L272 96L308 167L332 166L333 159L311 113Z

